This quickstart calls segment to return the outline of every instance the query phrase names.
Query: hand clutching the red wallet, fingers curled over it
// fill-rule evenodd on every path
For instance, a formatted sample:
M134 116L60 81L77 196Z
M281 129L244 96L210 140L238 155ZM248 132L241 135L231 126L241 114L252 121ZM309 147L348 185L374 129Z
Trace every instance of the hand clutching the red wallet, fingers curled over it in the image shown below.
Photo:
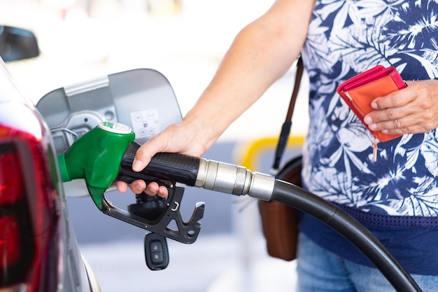
M418 134L438 127L438 80L408 81L407 88L372 101L364 122L386 134Z

